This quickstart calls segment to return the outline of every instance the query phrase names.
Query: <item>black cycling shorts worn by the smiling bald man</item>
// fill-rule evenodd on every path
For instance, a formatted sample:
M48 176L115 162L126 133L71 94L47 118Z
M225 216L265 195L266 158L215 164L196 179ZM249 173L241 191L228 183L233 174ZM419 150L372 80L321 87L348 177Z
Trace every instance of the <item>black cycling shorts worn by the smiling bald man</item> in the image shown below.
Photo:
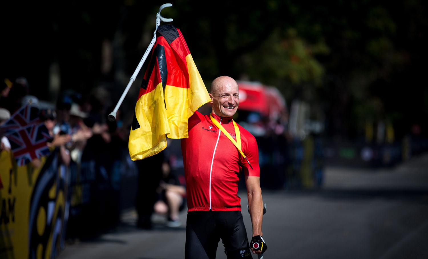
M252 258L241 211L187 213L186 259L215 259L223 241L227 258Z

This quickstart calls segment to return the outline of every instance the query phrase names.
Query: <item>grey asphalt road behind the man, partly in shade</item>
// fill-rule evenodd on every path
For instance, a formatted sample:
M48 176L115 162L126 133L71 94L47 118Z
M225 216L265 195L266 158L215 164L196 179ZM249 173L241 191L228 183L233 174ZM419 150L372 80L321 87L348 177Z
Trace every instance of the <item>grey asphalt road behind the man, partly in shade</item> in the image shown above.
M239 195L246 208L246 194ZM263 200L265 259L428 258L428 154L392 169L327 167L322 189L264 191ZM243 215L251 238L249 214ZM140 230L136 218L125 211L115 229L67 244L58 259L184 258L186 212L177 229L155 215L155 228ZM226 258L221 241L217 258Z

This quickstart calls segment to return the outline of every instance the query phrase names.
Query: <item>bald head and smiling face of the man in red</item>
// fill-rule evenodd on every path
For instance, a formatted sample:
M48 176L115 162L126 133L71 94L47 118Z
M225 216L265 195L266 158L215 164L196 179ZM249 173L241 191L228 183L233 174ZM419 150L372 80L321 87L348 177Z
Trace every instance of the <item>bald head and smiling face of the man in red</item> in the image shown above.
M217 77L211 85L212 113L232 117L239 105L238 84L232 77Z

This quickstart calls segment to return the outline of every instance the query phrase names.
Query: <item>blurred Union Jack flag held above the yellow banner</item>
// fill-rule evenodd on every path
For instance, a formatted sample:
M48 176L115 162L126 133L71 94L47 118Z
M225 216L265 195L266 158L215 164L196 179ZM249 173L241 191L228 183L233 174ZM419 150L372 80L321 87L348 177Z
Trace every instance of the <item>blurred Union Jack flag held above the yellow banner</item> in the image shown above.
M1 131L12 146L18 166L50 154L46 144L51 140L51 136L39 118L39 109L35 106L27 104L21 107L2 125Z

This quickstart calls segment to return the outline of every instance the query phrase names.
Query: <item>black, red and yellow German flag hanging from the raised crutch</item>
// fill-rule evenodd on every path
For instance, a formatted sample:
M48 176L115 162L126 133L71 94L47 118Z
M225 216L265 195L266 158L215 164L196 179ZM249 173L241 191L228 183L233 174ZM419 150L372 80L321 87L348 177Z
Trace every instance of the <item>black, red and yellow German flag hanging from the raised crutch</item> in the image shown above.
M166 148L169 138L187 138L188 119L211 101L181 31L158 27L129 135L129 155L140 160Z

